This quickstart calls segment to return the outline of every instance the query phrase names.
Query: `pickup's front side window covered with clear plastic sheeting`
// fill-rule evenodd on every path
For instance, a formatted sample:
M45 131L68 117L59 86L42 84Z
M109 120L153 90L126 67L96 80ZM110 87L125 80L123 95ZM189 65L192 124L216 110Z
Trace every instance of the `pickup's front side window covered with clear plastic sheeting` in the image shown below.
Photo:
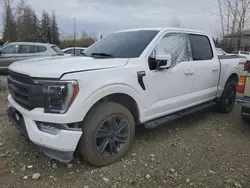
M172 57L172 67L183 61L191 61L191 47L185 33L165 35L155 48L156 53L166 53Z

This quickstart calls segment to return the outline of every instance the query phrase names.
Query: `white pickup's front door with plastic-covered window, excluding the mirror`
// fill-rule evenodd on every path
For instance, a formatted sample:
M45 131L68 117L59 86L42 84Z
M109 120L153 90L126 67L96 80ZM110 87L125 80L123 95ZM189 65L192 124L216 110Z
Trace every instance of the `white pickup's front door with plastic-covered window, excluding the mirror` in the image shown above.
M194 75L191 70L191 47L188 35L185 33L166 34L156 45L149 59L155 53L171 55L172 66L157 70L150 63L145 76L148 88L148 108L144 114L147 119L164 116L192 105L190 95L194 88Z

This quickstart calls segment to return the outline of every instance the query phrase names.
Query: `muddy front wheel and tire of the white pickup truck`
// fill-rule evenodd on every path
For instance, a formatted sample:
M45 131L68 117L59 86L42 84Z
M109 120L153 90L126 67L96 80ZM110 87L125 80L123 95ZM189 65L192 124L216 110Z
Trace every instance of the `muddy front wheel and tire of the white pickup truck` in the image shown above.
M116 122L116 125L114 126L111 122ZM120 124L124 124L125 128L117 133L117 126ZM94 166L107 166L119 161L126 155L134 140L134 118L126 107L118 103L102 102L96 104L87 114L81 126L83 134L78 149L87 162ZM112 126L113 132L110 128ZM127 132L127 138L124 138L126 135L124 132ZM103 137L103 135L105 136ZM124 141L123 139L126 140L125 143L119 144L117 142L117 140ZM116 147L115 144L118 146ZM104 151L101 146L105 145Z

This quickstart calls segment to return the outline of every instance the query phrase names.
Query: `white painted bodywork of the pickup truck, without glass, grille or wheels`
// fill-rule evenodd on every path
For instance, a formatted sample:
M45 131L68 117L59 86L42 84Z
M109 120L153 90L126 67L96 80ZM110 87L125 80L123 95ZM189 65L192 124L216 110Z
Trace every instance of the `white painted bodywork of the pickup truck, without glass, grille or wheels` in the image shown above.
M152 29L152 28L151 28ZM12 64L9 69L14 72L41 78L60 78L77 80L79 93L65 114L48 114L37 108L27 111L8 97L10 103L25 117L28 133L32 141L44 147L73 151L81 136L80 133L63 131L59 136L41 134L34 128L34 121L52 123L74 123L84 119L90 108L103 97L122 93L132 97L139 109L140 121L146 122L188 107L192 107L219 97L228 78L239 74L239 59L225 59L221 63L216 55L213 40L214 58L207 62L181 62L173 68L151 71L148 67L148 56L157 42L168 32L185 32L192 34L206 33L172 29L159 29L139 58L132 59L93 59L87 57L58 57L27 60ZM142 30L142 29L134 29ZM131 30L127 30L131 31ZM186 70L192 75L185 75ZM218 69L213 71L213 69ZM137 81L137 72L145 71L143 78L146 90L142 90Z

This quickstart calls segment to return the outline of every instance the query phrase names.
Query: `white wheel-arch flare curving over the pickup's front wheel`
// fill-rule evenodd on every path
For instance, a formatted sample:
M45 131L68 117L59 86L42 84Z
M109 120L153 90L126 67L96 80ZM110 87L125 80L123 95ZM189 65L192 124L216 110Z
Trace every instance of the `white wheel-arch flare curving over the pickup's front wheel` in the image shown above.
M98 90L93 91L91 95L89 95L86 100L80 105L83 118L86 116L91 107L96 104L96 102L108 95L116 93L126 94L132 97L137 103L139 111L143 108L140 95L133 87L125 84L112 84L106 85L102 88L99 88Z

